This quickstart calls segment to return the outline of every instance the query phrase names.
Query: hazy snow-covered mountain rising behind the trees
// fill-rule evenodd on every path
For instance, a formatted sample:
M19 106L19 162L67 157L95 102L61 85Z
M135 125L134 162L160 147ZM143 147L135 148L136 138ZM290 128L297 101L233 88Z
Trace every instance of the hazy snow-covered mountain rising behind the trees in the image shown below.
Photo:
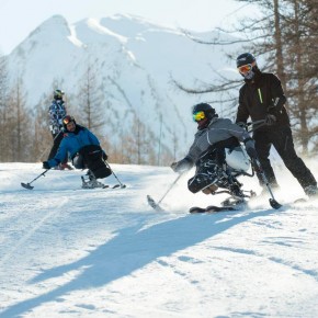
M212 38L213 33L196 36ZM55 15L8 58L11 80L23 80L31 109L52 94L56 82L66 91L71 110L80 112L79 81L92 66L105 110L105 134L115 138L118 127L129 129L138 117L155 138L161 134L170 149L175 135L180 145L190 145L195 129L191 106L211 98L180 92L171 77L191 88L196 80L213 82L213 70L231 72L228 69L234 67L219 47L197 44L179 30L129 15L72 25Z

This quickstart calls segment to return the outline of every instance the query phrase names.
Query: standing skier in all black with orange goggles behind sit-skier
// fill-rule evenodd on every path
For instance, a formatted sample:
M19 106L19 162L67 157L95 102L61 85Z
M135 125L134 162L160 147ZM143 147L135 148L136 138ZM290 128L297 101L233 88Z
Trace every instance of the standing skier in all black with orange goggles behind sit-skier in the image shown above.
M317 181L304 161L296 155L289 125L289 118L284 106L286 96L280 79L268 72L262 72L254 56L245 53L237 58L237 68L245 78L245 84L239 91L239 106L236 123L247 123L265 120L266 125L253 133L259 160L272 188L277 188L277 181L269 156L273 145L283 159L286 168L298 180L308 196L318 194ZM259 181L263 186L260 175Z

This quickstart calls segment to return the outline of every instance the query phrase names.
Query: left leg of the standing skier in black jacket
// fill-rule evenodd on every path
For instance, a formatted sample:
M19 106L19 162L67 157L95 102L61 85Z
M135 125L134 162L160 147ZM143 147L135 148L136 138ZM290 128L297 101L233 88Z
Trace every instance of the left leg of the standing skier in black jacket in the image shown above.
M270 136L268 132L254 132L253 139L255 140L255 150L258 152L258 157L260 160L260 163L262 166L262 169L268 178L268 181L271 186L277 188L277 181L274 173L274 170L271 166L271 161L269 159L270 157L270 150L272 143L270 140ZM257 172L260 185L264 188L264 181L260 173Z

